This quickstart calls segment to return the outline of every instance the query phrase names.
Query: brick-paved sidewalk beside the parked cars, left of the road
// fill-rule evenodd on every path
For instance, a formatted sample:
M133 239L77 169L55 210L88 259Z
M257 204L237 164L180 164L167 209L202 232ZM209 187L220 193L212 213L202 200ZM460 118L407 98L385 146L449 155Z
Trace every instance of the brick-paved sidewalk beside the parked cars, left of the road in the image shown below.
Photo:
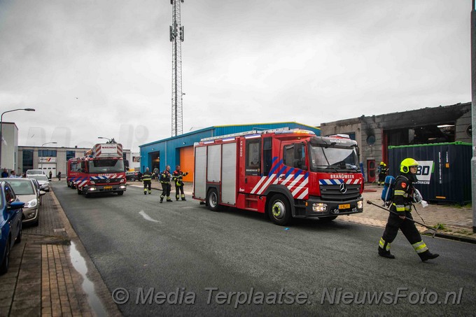
M66 186L55 182L54 186ZM83 290L84 277L71 258L71 242L83 256L94 293ZM104 307L90 307L97 296ZM104 314L103 314L104 313ZM10 268L0 276L0 316L120 316L109 290L71 228L54 192L43 196L38 227L23 228L22 241L10 253Z

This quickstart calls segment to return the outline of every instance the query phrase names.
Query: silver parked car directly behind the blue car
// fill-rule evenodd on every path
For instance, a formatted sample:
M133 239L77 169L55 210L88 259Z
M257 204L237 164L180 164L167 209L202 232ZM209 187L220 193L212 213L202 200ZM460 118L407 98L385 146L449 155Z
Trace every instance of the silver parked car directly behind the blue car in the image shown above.
M30 178L0 178L0 181L7 181L10 183L15 196L24 202L22 222L31 223L34 226L39 224L40 213L38 209L41 204L41 196L46 192L38 190L34 181Z

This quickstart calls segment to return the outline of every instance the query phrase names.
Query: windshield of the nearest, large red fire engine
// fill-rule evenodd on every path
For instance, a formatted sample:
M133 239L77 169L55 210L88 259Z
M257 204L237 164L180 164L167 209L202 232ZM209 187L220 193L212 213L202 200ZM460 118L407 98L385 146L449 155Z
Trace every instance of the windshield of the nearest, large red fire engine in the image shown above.
M311 171L358 172L355 148L342 146L310 146Z

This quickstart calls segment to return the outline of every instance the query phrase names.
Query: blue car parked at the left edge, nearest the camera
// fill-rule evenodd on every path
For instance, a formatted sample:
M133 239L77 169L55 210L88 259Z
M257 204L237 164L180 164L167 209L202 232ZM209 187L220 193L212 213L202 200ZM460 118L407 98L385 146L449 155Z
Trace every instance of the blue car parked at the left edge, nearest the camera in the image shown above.
M18 202L6 181L0 182L0 274L8 271L10 248L22 240L24 202Z

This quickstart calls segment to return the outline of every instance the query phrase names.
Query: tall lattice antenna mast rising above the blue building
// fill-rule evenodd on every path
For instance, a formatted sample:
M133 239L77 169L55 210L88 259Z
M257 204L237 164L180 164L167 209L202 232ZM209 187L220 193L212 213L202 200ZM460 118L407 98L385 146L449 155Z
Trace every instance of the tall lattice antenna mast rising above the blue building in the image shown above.
M180 24L180 3L183 0L170 0L172 4L172 136L182 134L182 42L183 27Z

